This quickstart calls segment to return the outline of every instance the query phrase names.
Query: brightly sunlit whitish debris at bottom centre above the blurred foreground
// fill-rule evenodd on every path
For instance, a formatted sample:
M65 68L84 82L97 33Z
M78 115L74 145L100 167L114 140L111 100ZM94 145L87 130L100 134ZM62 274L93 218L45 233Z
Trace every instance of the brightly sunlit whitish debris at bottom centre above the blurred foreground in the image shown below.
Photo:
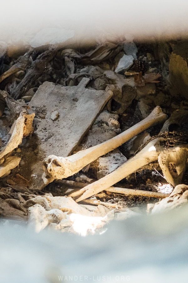
M35 232L43 230L50 223L52 228L62 232L72 232L86 236L94 234L107 222L114 218L114 212L104 213L89 211L81 205L75 203L71 197L35 197L24 204L29 205L28 223ZM45 204L44 206L44 198ZM41 202L42 201L42 202ZM31 206L32 203L36 203ZM40 203L43 203L41 205ZM82 225L81 225L82 223Z

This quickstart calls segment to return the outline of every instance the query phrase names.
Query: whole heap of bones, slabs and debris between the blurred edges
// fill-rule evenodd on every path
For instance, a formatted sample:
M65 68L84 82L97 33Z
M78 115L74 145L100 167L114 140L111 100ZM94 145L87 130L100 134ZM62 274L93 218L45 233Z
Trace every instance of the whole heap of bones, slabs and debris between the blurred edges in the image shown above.
M146 47L2 47L3 218L87 235L142 213L138 204L186 203L187 101L167 77L175 54Z

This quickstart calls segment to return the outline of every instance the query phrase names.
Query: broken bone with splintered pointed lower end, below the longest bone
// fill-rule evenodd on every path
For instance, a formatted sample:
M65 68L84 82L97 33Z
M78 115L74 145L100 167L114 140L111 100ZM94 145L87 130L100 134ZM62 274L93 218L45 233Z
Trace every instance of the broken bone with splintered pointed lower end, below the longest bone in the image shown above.
M102 179L82 188L80 190L81 196L76 199L76 202L80 202L81 200L91 197L100 191L107 190L108 187L116 184L139 168L156 161L159 153L162 151L160 142L163 140L164 138L154 139L134 157L130 158L127 162L118 167L118 169L114 170Z

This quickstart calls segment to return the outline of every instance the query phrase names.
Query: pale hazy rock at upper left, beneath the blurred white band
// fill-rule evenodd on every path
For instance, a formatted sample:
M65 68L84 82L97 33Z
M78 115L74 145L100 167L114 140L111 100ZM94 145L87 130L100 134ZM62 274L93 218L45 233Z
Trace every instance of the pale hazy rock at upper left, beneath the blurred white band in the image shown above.
M65 42L74 36L73 31L58 28L46 28L39 31L31 40L31 47L39 47L47 44L57 44Z

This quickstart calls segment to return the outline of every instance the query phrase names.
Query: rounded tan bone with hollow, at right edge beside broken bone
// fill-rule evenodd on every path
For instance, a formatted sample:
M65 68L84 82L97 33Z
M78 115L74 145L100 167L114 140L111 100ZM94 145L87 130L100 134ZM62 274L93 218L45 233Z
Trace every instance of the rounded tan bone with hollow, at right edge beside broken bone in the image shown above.
M181 184L188 158L188 146L172 147L159 154L159 165L166 180L173 186Z

